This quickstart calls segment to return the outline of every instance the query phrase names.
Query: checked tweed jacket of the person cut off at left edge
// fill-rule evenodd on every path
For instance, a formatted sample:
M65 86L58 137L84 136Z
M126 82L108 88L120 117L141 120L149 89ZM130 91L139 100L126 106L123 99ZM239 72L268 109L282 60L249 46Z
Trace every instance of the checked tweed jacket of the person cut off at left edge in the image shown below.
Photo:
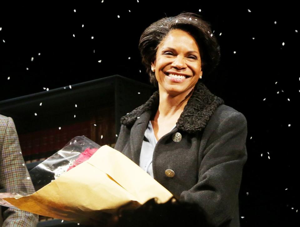
M0 188L8 192L31 194L34 188L29 177L12 118L0 115ZM3 209L3 208L2 208ZM3 212L3 225L36 226L38 215L8 208Z

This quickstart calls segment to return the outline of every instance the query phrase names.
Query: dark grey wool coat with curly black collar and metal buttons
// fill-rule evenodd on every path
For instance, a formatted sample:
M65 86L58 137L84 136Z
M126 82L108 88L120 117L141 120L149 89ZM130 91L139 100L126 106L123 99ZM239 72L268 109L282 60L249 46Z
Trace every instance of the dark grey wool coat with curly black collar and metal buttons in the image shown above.
M115 149L139 165L144 133L159 93L121 118ZM179 132L181 141L173 141ZM177 134L178 135L178 134ZM212 226L239 226L238 192L247 160L245 116L198 82L176 127L157 142L153 175L180 200L197 203ZM165 170L173 170L173 177Z

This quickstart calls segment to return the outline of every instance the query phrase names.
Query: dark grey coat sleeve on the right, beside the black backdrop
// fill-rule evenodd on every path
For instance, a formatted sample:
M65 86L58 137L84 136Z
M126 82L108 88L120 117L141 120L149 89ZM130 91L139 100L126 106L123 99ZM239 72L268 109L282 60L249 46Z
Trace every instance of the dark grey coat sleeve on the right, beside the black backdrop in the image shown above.
M238 193L243 165L247 160L247 121L239 112L207 125L198 182L183 191L180 199L197 203L212 226L229 224L238 212ZM206 133L206 135L205 135ZM236 215L237 216L237 215Z

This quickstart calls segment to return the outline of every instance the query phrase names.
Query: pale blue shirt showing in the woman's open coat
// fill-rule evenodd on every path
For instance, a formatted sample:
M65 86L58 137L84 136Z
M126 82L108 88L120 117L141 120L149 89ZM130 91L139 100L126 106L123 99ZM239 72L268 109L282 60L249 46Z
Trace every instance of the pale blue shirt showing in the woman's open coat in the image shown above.
M175 127L176 125L173 128ZM149 121L147 129L144 134L144 139L143 139L143 144L142 144L142 149L140 154L140 167L152 177L153 177L152 157L153 157L153 151L156 144L157 144L157 139L154 135L154 130L151 121Z

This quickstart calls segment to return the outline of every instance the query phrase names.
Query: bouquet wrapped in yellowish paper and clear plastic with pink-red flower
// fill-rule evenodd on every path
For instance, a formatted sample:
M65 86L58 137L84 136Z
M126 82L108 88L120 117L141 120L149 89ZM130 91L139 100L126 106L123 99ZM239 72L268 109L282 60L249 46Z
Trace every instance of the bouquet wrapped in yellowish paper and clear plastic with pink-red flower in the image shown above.
M173 196L121 152L85 136L73 138L29 174L37 191L0 193L0 205L93 225L124 205L136 208L154 197L164 203Z

